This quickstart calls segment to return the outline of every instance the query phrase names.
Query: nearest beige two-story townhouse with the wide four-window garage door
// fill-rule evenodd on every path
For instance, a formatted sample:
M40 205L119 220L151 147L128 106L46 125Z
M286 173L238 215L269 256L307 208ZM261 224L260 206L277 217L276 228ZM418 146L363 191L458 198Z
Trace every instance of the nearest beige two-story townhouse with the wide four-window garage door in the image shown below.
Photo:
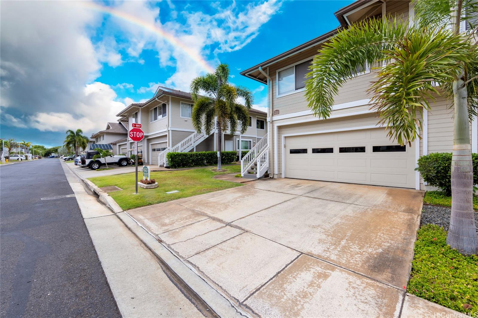
M412 25L413 2L356 1L335 13L340 28L369 17L404 19ZM324 42L337 30L323 34L241 72L266 84L269 95L269 173L273 178L297 178L424 189L419 156L451 152L453 109L439 98L424 110L422 139L400 146L386 136L371 109L367 89L376 71L366 65L343 85L329 118L313 115L304 96L305 74ZM477 120L470 128L472 151L477 152Z

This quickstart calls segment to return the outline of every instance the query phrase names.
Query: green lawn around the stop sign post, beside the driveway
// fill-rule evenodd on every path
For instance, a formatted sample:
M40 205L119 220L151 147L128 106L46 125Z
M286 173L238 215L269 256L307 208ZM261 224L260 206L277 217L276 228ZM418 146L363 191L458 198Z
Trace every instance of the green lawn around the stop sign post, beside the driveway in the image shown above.
M151 172L151 179L155 179L159 186L155 189L142 189L138 187L139 194L133 194L135 188L134 172L94 177L89 178L89 180L98 187L118 186L123 189L122 191L109 192L109 195L123 210L234 188L241 185L236 182L212 178L217 174L238 173L240 171L240 165L223 166L222 169L227 170L225 172L214 172L211 171L211 169L214 168ZM141 178L142 172L140 170L138 171L138 180ZM165 193L174 190L178 190L179 192L172 194Z

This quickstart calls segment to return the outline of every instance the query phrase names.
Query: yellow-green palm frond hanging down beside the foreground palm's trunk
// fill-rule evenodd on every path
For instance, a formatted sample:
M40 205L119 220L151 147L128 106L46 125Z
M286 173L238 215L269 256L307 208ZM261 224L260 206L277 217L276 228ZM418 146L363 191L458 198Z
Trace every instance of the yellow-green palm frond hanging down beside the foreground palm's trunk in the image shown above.
M403 145L420 138L422 107L430 109L429 101L446 94L469 49L462 35L442 27L412 28L393 48L383 50L390 62L380 69L369 92L372 109L391 139Z

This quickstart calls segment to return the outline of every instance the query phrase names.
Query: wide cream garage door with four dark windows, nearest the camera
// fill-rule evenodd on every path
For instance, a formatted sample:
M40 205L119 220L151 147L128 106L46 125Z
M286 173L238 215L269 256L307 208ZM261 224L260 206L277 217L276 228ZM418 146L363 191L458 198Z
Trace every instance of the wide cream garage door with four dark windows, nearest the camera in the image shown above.
M285 138L285 177L415 188L415 146L400 146L385 129Z

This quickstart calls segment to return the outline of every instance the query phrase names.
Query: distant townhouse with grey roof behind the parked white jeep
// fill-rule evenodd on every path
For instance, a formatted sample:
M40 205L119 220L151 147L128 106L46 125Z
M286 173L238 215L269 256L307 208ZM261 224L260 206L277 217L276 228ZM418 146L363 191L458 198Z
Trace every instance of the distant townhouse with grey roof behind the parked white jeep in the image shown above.
M126 127L127 124L121 120L117 123L107 123L106 129L91 135L90 140L93 139L93 143L89 145L88 149L110 149L115 155L121 153L119 152L120 149L117 147L117 143L128 135ZM113 145L115 147L113 147Z

